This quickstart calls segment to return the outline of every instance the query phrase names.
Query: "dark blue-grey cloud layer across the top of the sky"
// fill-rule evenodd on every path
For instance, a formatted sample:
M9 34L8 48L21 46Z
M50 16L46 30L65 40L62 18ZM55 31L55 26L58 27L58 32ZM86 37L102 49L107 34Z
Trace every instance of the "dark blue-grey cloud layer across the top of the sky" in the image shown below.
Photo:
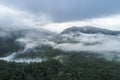
M120 0L0 0L0 4L50 15L54 22L77 21L120 13Z

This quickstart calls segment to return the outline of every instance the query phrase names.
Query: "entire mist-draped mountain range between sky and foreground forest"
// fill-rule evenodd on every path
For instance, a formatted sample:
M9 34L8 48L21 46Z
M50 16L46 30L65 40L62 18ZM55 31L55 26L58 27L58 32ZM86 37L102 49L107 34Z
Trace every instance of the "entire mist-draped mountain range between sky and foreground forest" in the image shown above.
M113 55L120 52L119 34L120 31L91 26L71 27L59 34L43 29L0 29L0 59L46 59L65 55L59 50Z

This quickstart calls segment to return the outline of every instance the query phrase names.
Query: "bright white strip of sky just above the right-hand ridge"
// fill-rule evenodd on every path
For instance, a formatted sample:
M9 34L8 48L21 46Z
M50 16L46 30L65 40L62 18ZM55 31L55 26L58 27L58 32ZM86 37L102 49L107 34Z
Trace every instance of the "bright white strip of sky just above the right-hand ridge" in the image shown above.
M106 28L111 30L120 30L120 15L107 16L96 19L88 19L84 21L72 21L64 23L49 23L43 28L49 29L51 31L61 32L64 29L72 26L95 26L100 28Z

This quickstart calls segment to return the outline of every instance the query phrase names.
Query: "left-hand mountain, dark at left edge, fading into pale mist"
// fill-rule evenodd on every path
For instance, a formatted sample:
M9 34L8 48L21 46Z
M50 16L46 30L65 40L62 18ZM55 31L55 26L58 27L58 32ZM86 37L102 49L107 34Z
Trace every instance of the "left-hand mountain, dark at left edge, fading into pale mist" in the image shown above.
M44 29L0 28L0 57L8 56L14 52L23 53L22 51L26 47L30 49L34 44L46 40L51 35L53 35L52 32Z

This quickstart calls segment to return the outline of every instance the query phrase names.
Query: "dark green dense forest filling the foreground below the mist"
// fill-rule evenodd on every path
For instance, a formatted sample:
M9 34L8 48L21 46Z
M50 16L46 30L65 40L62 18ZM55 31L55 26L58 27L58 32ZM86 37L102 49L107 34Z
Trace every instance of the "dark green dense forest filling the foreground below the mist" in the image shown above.
M49 56L57 52L48 51ZM0 80L120 80L119 62L83 53L59 53L66 56L41 63L0 61Z

